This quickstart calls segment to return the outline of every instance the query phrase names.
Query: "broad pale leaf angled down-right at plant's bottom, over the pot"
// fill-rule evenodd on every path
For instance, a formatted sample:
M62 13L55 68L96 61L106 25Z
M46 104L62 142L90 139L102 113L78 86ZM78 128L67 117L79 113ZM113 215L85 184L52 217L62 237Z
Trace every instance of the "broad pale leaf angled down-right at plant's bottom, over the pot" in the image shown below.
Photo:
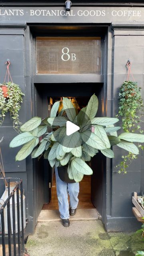
M74 166L74 168L76 168L76 170L82 174L92 174L92 169L90 166L88 166L88 164L86 164L81 158L74 158L71 162L71 166Z

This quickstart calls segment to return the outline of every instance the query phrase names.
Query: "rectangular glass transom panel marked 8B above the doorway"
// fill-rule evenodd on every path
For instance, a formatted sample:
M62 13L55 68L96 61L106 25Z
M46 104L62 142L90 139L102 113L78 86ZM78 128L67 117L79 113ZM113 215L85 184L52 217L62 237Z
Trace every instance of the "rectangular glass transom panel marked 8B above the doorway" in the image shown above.
M37 74L100 74L100 37L37 37Z

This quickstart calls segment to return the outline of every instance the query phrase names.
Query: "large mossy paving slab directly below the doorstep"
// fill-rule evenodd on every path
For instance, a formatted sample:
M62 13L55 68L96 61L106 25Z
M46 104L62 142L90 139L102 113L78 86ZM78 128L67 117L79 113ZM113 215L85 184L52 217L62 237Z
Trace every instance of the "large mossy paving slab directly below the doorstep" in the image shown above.
M101 220L38 222L26 244L30 256L114 256Z

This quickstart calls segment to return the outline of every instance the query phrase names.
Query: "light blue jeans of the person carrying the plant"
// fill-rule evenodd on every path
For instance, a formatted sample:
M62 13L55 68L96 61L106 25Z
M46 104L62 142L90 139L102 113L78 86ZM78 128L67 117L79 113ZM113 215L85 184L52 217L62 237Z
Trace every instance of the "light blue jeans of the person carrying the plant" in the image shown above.
M79 182L66 183L58 176L58 168L55 167L56 174L56 192L58 196L58 206L60 218L69 219L68 194L70 196L70 208L76 209L78 206Z

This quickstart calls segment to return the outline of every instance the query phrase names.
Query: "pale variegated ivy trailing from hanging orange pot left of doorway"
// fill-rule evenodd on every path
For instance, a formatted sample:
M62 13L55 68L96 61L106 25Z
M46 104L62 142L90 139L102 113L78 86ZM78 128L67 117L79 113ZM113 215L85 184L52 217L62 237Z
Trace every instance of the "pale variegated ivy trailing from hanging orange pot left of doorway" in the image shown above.
M8 88L8 96L4 97L2 91L2 85ZM13 121L13 127L16 132L19 132L19 127L22 123L19 121L18 112L20 110L20 104L22 103L22 93L18 84L14 84L12 82L7 82L4 84L0 84L0 126L4 121L4 117L7 112L10 112L10 117Z

